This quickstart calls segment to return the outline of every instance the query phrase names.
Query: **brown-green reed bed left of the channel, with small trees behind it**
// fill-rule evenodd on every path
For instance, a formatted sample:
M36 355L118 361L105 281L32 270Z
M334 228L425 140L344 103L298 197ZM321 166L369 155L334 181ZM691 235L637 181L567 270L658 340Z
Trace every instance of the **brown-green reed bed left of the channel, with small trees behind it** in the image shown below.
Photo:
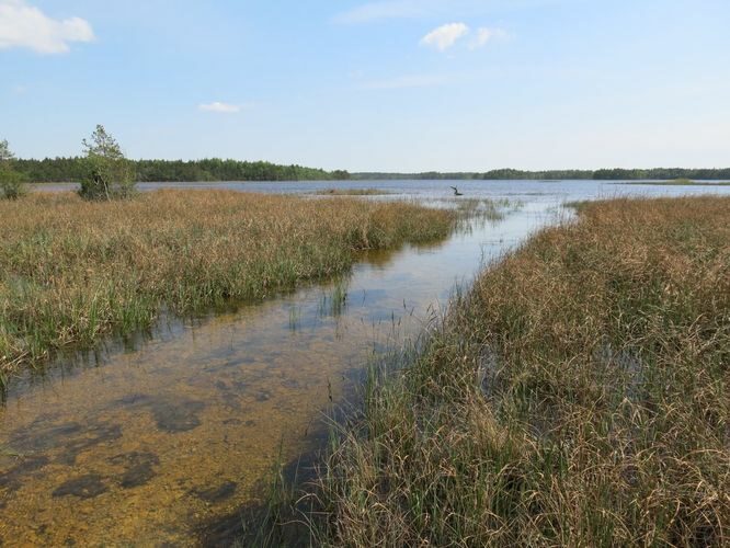
M453 215L410 204L160 191L0 202L0 372L107 333L263 299L351 267L357 251L445 237Z

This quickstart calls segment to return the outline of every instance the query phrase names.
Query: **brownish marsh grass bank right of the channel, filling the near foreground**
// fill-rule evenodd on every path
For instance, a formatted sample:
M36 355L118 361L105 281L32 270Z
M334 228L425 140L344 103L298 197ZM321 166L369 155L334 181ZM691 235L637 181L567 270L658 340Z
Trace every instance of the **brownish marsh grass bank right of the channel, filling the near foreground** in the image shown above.
M373 370L323 544L730 543L730 199L612 201L540 232Z

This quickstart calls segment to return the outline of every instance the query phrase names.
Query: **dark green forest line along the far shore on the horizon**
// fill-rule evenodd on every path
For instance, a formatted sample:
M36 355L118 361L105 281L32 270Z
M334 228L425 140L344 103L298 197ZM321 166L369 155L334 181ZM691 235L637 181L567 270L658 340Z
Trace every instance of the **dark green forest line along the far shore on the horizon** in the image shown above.
M730 180L730 168L725 169L600 169L524 171L498 169L486 172L426 171L421 173L326 171L301 165L281 165L263 161L223 160L130 160L139 182L218 182L218 181L383 181L383 180L531 180L531 181L670 181L689 179L698 181ZM84 175L83 159L46 158L19 159L15 170L31 182L66 183L80 181Z

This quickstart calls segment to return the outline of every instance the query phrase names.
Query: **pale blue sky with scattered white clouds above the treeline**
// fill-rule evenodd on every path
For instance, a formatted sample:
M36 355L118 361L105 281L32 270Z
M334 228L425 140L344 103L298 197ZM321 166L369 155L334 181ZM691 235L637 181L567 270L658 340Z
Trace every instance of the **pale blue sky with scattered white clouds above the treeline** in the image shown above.
M728 0L0 0L0 139L351 171L730 165Z

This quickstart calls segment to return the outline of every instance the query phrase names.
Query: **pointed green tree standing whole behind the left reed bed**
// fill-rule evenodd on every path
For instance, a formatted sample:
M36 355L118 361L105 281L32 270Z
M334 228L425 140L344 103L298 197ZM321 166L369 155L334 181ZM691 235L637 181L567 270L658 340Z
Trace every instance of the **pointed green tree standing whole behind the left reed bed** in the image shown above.
M79 194L85 199L128 198L135 194L135 173L118 142L98 125L91 139L83 139L85 176Z

